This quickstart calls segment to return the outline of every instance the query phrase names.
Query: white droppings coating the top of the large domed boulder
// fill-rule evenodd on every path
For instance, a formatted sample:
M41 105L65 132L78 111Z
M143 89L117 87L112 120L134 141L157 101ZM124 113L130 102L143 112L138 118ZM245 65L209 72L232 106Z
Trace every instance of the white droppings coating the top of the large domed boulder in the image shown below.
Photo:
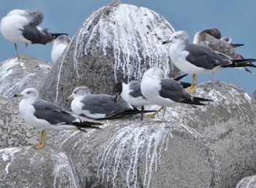
M98 9L97 12L103 9L106 7ZM97 12L91 14L78 31L73 57L75 70L78 70L79 57L88 55L87 49L95 45L95 39L99 39L97 45L102 49L103 55L107 55L107 49L113 52L115 79L116 71L120 69L128 78L141 79L148 68L146 62L150 67L159 66L165 74L169 73L170 58L162 41L169 38L174 28L166 20L164 26L163 17L145 7L118 4L111 7L111 10L105 10L97 23L94 23ZM82 45L81 42L86 44Z

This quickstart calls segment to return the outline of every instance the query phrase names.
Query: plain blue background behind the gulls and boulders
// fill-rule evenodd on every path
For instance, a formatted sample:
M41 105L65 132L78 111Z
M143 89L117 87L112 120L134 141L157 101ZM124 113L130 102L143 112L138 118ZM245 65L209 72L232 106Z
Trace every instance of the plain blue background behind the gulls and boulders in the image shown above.
M94 10L99 9L112 1L15 1L1 0L0 17L4 17L12 9L40 9L44 15L44 21L40 25L48 28L52 32L65 32L73 36L80 25ZM147 7L160 15L176 29L187 31L190 41L197 31L206 28L218 28L222 36L230 36L233 43L245 44L244 47L238 47L237 51L245 58L256 58L256 1L254 0L127 0L122 3L135 4ZM64 3L64 4L63 4ZM0 36L0 61L12 58L15 55L14 45ZM20 54L24 52L24 45L19 44ZM50 51L52 44L31 45L29 46L29 55L50 60ZM247 74L234 68L222 70L217 78L223 82L231 82L238 87L252 93L256 84L256 68L250 68L254 74ZM198 82L207 82L211 79L210 74L199 76ZM191 81L191 77L187 77Z

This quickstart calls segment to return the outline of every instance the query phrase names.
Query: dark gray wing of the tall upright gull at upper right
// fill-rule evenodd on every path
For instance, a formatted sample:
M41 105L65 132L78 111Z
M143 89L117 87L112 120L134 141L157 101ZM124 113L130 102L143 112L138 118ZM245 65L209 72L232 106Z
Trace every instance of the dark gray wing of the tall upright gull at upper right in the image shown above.
M198 67L211 70L217 66L228 65L231 63L230 58L227 55L215 52L206 45L189 43L184 47L184 50L189 52L186 60Z

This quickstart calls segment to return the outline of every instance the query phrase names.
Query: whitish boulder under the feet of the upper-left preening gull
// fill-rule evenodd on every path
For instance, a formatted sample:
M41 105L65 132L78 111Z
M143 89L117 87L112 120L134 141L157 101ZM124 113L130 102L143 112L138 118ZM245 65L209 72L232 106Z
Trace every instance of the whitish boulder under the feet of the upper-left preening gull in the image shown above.
M26 60L12 58L0 63L0 96L12 97L26 87L38 87L50 71L44 60L29 57Z

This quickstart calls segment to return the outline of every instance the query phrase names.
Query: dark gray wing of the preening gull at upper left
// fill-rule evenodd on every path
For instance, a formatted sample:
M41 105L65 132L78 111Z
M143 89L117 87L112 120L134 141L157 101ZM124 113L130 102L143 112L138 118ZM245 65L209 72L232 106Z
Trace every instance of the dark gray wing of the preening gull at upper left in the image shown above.
M24 38L31 41L32 44L47 44L54 39L46 29L39 31L33 24L23 26L20 31L22 31Z

